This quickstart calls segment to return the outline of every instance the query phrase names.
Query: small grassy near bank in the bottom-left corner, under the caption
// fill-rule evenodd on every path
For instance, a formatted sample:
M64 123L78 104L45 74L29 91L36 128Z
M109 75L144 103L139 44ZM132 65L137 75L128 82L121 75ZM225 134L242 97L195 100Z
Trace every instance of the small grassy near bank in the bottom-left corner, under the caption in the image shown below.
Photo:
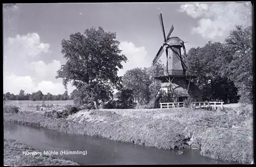
M37 166L37 165L79 165L70 160L58 159L46 155L23 155L24 151L38 152L38 150L15 140L4 138L4 164L9 166Z

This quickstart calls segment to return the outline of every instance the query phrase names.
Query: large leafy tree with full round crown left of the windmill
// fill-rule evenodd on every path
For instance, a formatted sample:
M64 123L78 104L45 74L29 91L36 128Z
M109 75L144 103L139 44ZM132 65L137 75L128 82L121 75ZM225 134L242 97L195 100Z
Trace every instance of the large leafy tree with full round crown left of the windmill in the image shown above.
M57 71L56 78L62 78L65 88L68 82L77 88L76 104L95 102L98 108L98 100L109 100L113 90L121 88L117 71L127 58L120 54L119 42L115 39L116 33L92 27L83 34L71 34L70 39L62 40L61 53L67 62Z

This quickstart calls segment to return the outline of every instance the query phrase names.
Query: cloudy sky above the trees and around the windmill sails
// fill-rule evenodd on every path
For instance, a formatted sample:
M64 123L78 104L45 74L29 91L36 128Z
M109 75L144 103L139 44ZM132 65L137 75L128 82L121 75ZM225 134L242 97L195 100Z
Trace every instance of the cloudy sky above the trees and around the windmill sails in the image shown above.
M119 48L129 61L118 71L122 76L127 70L151 66L164 42L160 13L165 34L173 24L171 36L188 41L188 51L208 41L223 42L234 25L252 25L252 12L250 2L4 5L4 93L40 90L43 94L63 94L62 79L55 78L66 62L60 52L61 40L93 26L116 32ZM74 89L68 85L69 93Z

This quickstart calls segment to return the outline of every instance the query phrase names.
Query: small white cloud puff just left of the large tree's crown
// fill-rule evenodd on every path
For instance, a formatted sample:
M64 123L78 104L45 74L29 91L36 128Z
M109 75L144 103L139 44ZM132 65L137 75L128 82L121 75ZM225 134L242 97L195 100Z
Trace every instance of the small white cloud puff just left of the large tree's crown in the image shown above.
M38 78L42 80L54 79L60 67L61 67L61 64L57 60L53 60L52 63L49 63L49 64L46 64L44 61L30 63L30 68L35 70Z

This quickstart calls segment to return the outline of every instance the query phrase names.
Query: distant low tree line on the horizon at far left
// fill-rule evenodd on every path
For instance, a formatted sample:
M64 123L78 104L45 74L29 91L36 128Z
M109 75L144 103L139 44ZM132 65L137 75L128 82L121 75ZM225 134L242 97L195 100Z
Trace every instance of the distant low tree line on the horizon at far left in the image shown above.
M33 100L33 101L50 101L50 100L73 100L74 94L76 90L74 90L70 95L68 91L65 91L62 95L52 95L51 93L42 94L41 91L33 92L32 94L25 94L24 90L20 90L19 94L14 95L13 93L7 92L4 94L4 100Z

